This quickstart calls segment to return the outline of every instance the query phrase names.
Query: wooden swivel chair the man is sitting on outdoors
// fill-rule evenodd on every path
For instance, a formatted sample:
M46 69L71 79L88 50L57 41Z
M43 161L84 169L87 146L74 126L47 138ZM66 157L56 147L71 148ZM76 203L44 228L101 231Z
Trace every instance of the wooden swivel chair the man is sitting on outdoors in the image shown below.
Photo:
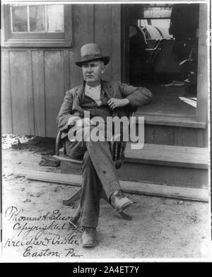
M134 112L131 112L129 115L129 124L132 124L131 117L134 117ZM61 143L63 145L62 155L60 155L60 151L59 151L59 146L61 145ZM110 151L112 153L112 158L113 158L116 169L119 169L122 166L122 163L124 163L125 147L126 147L126 141L123 141L122 138L120 141L115 141L114 136L113 136L112 142L110 143ZM65 143L61 139L61 131L59 131L57 134L54 158L61 162L69 163L70 165L71 164L72 165L81 165L81 163L82 163L82 160L75 160L73 158L70 158L66 154ZM76 193L73 194L69 199L63 200L63 204L66 206L71 206L73 204L73 202L78 200L80 197L81 197L81 188L78 189L78 191L76 191ZM108 201L107 196L105 194L105 191L103 189L101 191L101 198L105 199L110 204L110 202ZM124 213L123 211L117 212L117 213L119 213L119 215L122 216L122 218L125 220L132 219L132 217L130 215ZM76 224L79 218L80 218L80 205L78 205L78 208L76 209L76 212L73 215L73 218L71 220L72 223Z

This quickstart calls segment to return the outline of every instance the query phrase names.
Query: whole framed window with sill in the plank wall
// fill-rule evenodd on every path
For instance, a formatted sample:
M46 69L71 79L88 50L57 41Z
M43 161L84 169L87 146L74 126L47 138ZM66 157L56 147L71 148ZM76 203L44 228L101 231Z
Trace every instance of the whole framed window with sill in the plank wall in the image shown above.
M4 5L4 46L70 47L71 5Z

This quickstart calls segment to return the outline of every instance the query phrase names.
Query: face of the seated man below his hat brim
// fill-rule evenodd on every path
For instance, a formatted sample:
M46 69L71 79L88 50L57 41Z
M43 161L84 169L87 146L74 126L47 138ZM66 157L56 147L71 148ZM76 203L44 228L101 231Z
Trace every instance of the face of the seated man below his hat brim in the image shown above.
M88 86L98 86L100 84L102 73L105 71L105 66L102 61L89 61L83 64L83 78Z

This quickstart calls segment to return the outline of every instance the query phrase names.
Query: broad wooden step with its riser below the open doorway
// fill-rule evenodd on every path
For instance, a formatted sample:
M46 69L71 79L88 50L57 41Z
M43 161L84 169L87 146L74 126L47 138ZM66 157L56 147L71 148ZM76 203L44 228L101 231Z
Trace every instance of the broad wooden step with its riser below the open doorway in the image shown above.
M61 162L61 172L81 175L81 167ZM177 187L208 188L208 150L184 146L145 144L142 149L126 146L119 179Z

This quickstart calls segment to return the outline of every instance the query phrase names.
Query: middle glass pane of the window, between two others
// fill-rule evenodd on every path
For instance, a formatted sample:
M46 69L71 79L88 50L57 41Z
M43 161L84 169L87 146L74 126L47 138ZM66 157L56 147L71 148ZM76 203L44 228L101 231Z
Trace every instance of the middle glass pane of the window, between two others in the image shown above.
M45 32L45 6L29 6L30 32Z

